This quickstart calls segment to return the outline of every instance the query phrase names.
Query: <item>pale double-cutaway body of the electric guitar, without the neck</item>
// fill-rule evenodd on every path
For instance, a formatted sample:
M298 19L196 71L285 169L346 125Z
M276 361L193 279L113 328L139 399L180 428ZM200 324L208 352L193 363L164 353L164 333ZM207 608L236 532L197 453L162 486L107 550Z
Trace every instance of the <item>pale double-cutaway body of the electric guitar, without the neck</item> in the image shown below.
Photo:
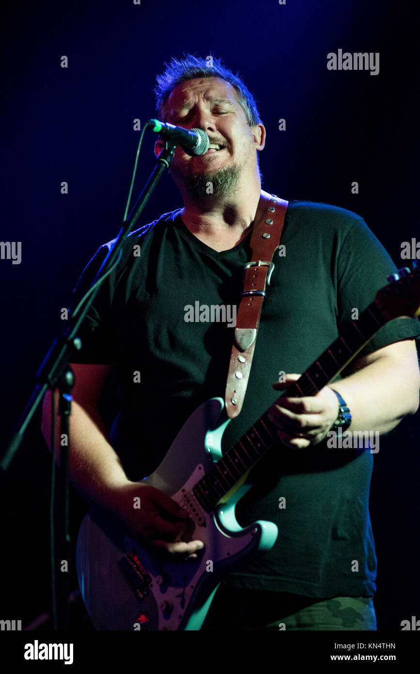
M242 528L236 521L236 503L249 484L209 513L192 493L221 458L221 437L229 421L221 398L203 403L180 429L160 466L143 481L190 512L192 524L183 540L203 541L197 559L166 561L93 510L83 520L77 578L97 630L199 630L221 579L248 557L273 547L275 524L258 521Z

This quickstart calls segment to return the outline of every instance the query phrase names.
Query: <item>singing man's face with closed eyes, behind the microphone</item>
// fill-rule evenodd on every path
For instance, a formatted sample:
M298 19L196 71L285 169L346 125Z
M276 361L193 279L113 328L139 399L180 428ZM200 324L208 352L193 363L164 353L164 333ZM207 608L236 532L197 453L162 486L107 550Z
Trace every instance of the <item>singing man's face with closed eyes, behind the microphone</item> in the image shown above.
M246 115L236 98L234 87L219 78L197 78L179 84L166 102L166 122L199 128L207 133L211 144L201 156L190 156L178 146L170 171L181 193L192 197L232 193L240 181L253 179L256 173L256 148L263 149L265 129L248 126ZM162 149L157 142L155 152Z

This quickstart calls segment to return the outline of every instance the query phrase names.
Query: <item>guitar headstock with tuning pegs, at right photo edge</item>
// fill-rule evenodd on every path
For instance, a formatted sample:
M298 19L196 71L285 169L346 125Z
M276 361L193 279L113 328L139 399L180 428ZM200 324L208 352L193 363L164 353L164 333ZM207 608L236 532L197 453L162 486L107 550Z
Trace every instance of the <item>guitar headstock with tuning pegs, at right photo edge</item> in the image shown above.
M390 282L378 290L375 304L387 321L403 316L420 315L420 265L413 260L412 269L403 267L388 276Z

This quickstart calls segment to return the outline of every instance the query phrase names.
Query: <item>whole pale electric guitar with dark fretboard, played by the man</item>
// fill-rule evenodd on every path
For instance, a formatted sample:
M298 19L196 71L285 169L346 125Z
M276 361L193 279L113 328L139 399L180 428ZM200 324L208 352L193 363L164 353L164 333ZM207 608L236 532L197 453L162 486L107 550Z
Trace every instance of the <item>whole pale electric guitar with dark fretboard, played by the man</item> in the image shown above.
M420 266L388 277L388 286L359 319L330 344L287 390L314 396L329 384L387 321L420 314ZM77 539L77 577L97 630L199 630L223 576L277 539L273 522L242 528L235 507L250 489L248 472L275 442L277 427L265 414L222 456L228 419L221 398L203 403L186 421L164 460L142 483L160 489L190 514L184 540L205 547L197 559L167 561L95 510ZM140 493L141 496L141 493ZM122 525L120 525L122 526Z

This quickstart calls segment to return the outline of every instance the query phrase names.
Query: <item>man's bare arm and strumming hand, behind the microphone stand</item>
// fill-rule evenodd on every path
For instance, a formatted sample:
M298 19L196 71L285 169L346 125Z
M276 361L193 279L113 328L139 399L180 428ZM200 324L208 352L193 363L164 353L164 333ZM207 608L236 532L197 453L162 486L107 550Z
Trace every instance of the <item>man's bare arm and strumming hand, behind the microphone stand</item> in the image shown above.
M201 541L184 543L178 540L185 530L188 513L160 490L127 479L120 459L108 441L98 402L110 367L71 363L71 368L75 386L69 419L69 473L75 489L92 505L99 505L120 518L133 532L149 539L154 547L168 553L197 556L192 553L203 547ZM57 392L56 401L57 409ZM52 395L47 392L42 407L42 433L49 448L51 403ZM58 449L59 421L57 414ZM133 499L137 497L141 499L140 509L133 506Z

